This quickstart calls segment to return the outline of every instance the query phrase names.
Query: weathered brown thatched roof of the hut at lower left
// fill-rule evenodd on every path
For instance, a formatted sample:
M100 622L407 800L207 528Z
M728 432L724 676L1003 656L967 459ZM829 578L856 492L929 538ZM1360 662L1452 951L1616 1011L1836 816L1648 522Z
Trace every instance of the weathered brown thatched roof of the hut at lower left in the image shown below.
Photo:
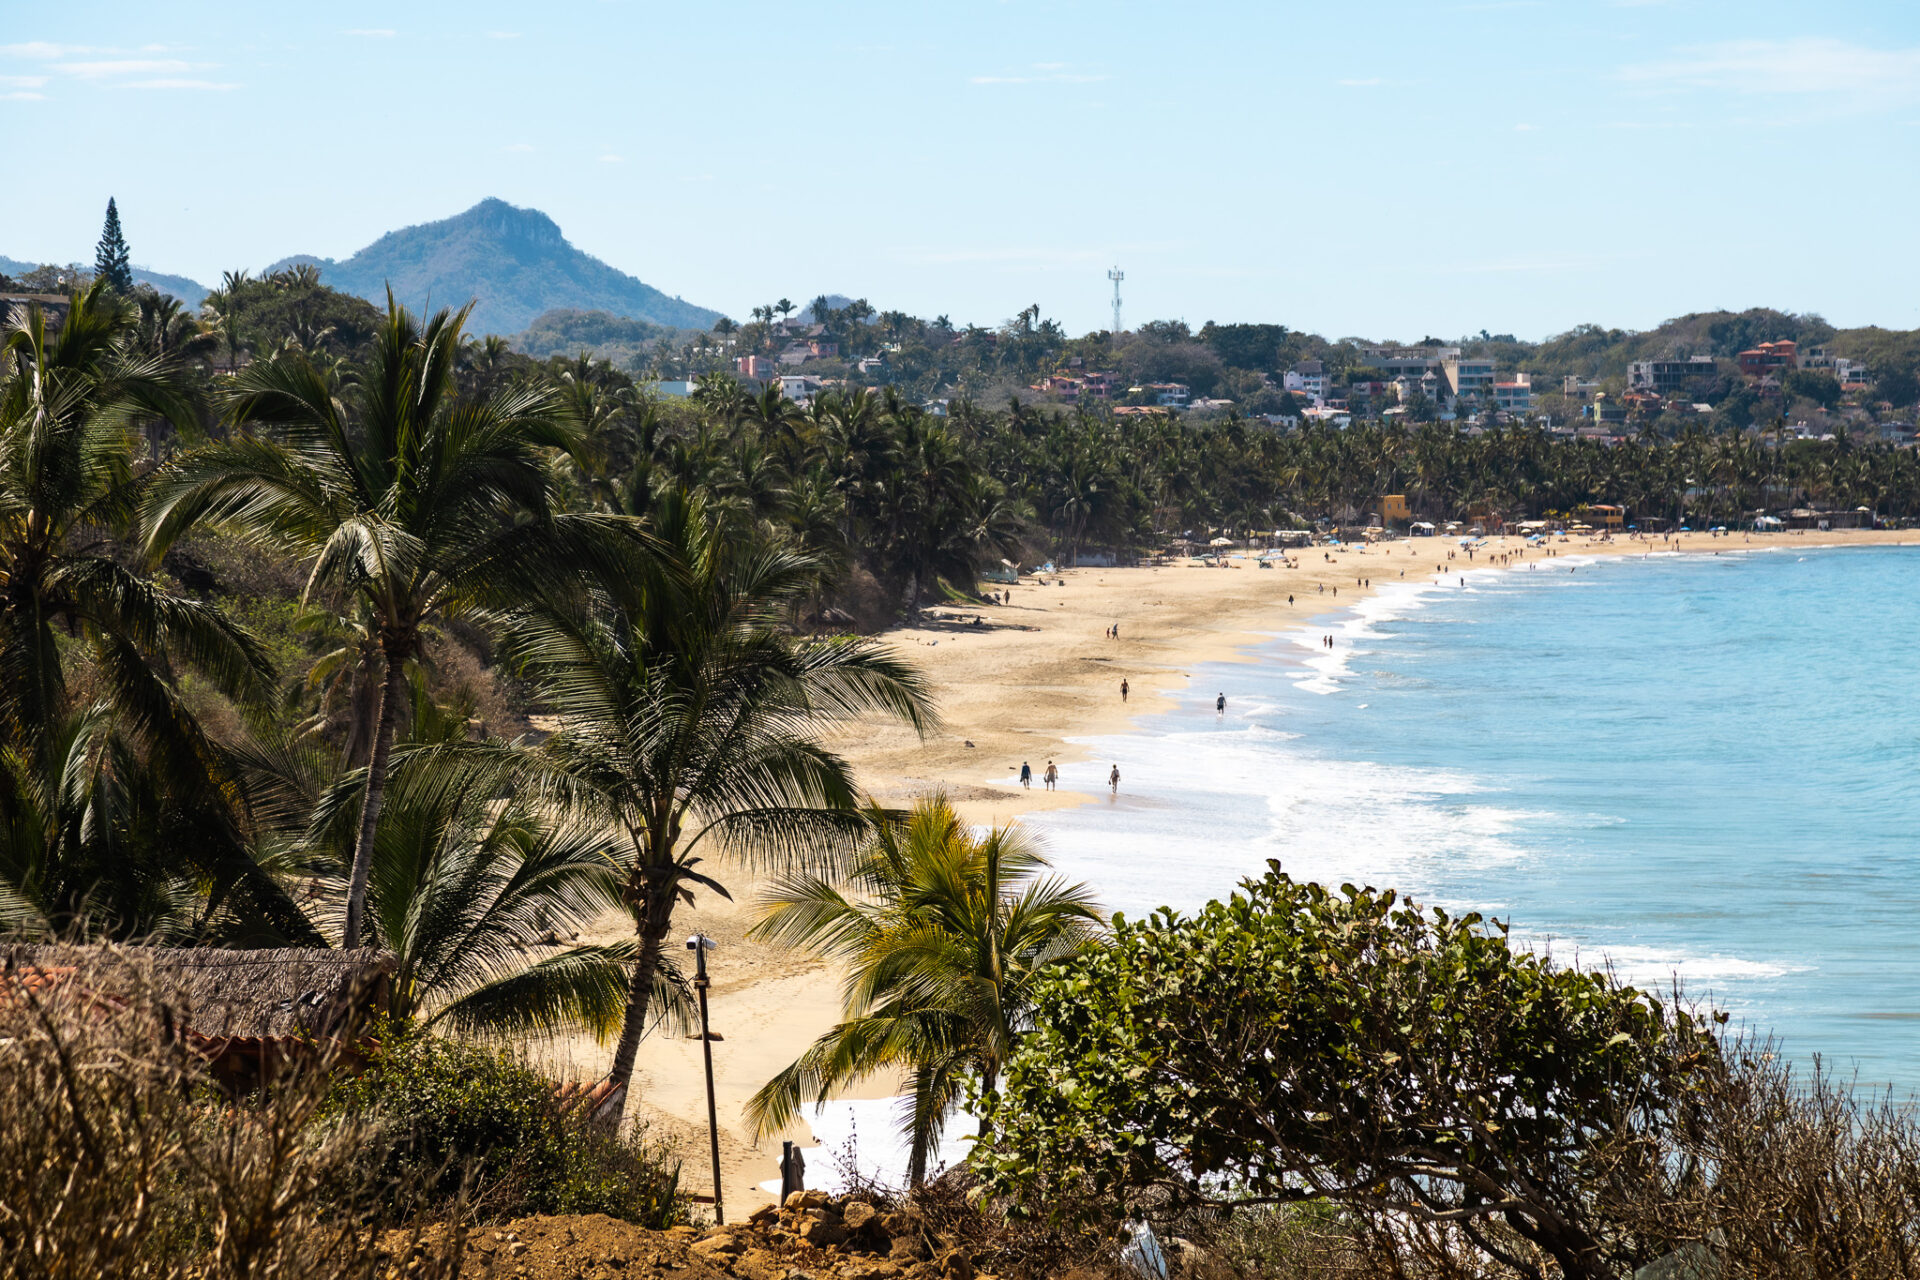
M367 1011L386 994L394 956L372 948L0 946L0 981L77 981L111 998L127 981L115 969L179 994L200 1036L267 1040L328 1034Z

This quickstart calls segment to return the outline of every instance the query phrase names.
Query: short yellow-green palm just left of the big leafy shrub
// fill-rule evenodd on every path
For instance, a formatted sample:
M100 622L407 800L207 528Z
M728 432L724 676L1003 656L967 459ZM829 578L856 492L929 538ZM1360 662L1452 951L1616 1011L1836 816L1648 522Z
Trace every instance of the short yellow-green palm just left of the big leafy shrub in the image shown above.
M876 837L847 896L826 875L787 875L755 927L847 965L847 1021L747 1103L755 1138L806 1102L879 1071L906 1071L908 1176L918 1186L968 1077L989 1094L1033 1009L1033 984L1081 948L1098 915L1085 885L1039 879L1046 860L1016 827L975 835L945 798L904 823L870 810Z

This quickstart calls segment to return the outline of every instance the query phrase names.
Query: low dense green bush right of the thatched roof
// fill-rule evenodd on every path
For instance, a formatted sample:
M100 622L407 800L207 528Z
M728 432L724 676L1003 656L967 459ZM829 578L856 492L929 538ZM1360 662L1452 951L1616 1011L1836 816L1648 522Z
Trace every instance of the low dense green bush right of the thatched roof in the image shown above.
M564 1109L553 1082L503 1050L388 1029L328 1111L384 1136L374 1176L417 1188L420 1213L463 1196L484 1219L605 1213L655 1230L684 1219L680 1171L645 1136Z

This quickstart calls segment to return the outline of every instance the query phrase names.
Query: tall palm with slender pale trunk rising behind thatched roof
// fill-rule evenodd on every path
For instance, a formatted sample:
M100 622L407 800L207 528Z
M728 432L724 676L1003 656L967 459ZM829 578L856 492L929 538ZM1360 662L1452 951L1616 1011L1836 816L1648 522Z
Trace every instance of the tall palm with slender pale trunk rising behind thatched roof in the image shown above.
M436 614L532 595L589 564L618 528L555 514L547 453L576 449L578 432L549 390L459 395L465 320L467 309L440 311L422 328L388 294L372 357L346 386L300 351L250 365L228 395L240 434L188 453L148 495L154 551L202 520L230 526L313 557L307 597L353 595L380 633L384 685L342 935L349 948L361 942L394 720L424 628Z

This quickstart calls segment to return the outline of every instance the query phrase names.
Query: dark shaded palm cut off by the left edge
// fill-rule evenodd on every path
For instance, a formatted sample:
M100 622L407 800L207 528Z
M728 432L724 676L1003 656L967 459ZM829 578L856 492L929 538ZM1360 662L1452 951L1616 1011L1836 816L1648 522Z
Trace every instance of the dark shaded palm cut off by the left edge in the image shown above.
M177 664L234 693L271 679L250 631L111 557L132 526L136 418L192 422L171 367L131 349L136 324L96 280L58 336L31 307L0 347L0 731L17 741L71 710L63 637L152 731L196 733L159 674Z

